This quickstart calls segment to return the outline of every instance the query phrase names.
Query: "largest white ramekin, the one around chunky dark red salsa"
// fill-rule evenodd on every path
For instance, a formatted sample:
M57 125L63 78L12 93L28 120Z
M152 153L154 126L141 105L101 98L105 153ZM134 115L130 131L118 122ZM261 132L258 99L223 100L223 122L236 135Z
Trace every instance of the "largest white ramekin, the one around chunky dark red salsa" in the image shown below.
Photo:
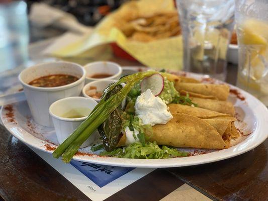
M28 84L30 81L51 74L69 74L79 79L73 83L57 87L37 87ZM82 66L71 62L46 62L26 68L19 75L19 80L27 98L30 111L36 123L52 127L49 106L56 100L69 96L78 96L84 85L85 70Z

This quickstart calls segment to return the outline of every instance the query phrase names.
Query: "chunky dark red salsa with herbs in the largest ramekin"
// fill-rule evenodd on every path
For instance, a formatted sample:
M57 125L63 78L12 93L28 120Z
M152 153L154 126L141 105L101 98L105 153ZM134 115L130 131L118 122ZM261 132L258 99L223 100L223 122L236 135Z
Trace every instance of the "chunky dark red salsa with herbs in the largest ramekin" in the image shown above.
M78 78L72 75L55 74L39 77L30 81L29 84L38 87L56 87L70 84L76 80Z

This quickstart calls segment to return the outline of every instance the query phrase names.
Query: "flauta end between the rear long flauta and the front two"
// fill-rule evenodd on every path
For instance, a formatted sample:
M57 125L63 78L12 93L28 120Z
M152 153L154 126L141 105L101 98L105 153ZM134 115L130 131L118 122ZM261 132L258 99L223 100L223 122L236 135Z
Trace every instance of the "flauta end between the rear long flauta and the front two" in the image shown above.
M193 103L197 104L198 108L228 114L232 117L234 116L234 106L231 102L200 97L190 97L190 99Z

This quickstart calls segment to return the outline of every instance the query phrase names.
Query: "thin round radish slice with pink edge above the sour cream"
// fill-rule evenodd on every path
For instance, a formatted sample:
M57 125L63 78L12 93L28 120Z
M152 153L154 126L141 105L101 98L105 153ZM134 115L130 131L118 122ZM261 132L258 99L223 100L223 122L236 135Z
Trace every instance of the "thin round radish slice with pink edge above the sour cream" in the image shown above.
M159 95L164 89L164 78L160 74L153 74L146 77L141 82L141 92L145 92L147 89L152 91L154 96Z

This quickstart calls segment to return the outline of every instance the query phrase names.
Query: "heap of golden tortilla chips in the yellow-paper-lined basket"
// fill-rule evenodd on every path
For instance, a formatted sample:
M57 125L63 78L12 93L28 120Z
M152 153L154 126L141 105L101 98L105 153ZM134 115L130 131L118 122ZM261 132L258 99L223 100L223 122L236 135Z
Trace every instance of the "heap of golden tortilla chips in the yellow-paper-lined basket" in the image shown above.
M127 5L127 7L120 8L114 18L116 21L115 27L121 30L128 39L132 41L150 42L181 34L181 27L176 11L161 11L148 15L138 10L132 11L129 7L130 4ZM137 8L134 6L134 9ZM130 16L128 16L128 12Z

